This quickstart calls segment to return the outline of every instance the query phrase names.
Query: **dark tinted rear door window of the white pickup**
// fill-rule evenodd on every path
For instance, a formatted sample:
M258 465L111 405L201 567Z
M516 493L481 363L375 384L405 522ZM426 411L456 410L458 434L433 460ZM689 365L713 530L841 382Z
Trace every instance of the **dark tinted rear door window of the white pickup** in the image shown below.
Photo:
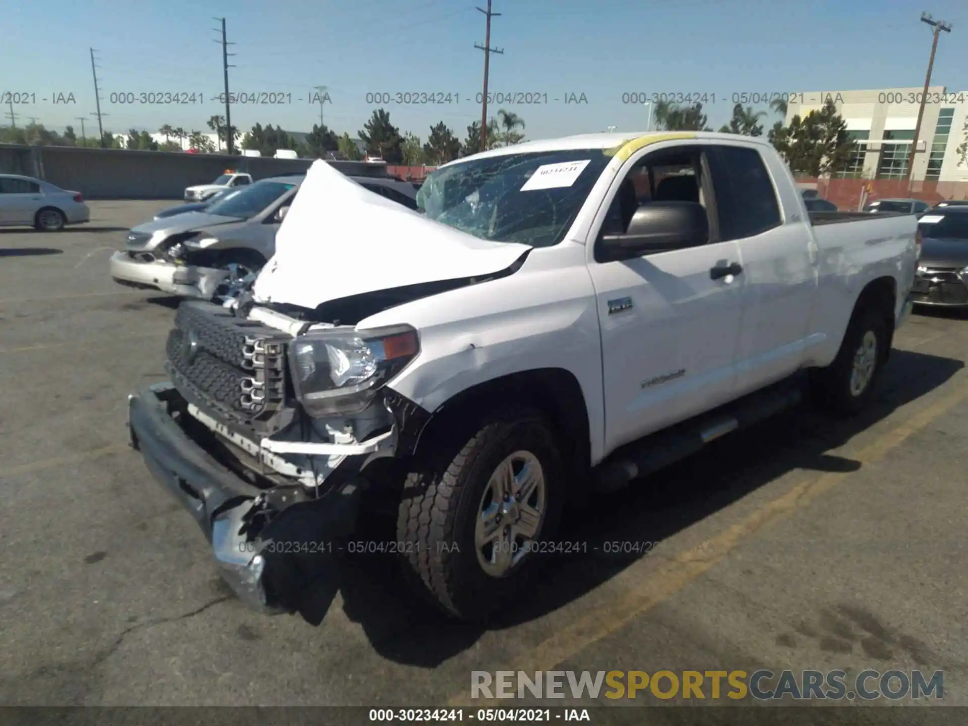
M719 239L728 242L779 227L779 202L760 152L742 146L711 146L707 154L719 216Z

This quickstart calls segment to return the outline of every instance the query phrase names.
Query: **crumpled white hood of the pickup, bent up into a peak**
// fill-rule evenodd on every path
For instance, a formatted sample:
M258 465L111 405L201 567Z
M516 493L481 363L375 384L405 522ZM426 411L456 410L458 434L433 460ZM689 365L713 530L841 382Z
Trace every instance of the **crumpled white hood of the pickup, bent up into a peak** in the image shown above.
M312 309L364 292L493 275L529 249L429 220L320 160L289 207L253 296Z

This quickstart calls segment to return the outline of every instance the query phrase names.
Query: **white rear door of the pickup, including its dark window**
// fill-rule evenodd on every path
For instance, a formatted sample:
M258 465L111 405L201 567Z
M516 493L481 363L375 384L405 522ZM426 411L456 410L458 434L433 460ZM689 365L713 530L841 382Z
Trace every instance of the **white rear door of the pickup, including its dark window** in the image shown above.
M802 365L818 251L778 157L726 144L711 145L708 154L720 238L738 244L742 257L745 294L736 366L741 396Z

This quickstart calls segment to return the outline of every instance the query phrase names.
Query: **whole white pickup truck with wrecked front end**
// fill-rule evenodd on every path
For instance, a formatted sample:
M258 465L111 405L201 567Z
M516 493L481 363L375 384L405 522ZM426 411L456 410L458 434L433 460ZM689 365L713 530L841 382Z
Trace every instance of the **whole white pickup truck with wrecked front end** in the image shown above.
M416 587L486 617L563 506L796 405L800 378L862 408L919 255L914 216L808 215L734 135L532 141L418 203L315 164L252 293L182 303L170 381L130 397L133 445L254 607L318 622L359 507L390 500Z

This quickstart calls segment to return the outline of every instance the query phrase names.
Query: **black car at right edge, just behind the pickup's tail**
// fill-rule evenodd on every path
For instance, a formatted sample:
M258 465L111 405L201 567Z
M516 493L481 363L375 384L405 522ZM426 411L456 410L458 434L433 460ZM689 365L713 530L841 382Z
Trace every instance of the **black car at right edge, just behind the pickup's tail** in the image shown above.
M932 210L919 222L923 246L911 299L968 307L968 207Z

